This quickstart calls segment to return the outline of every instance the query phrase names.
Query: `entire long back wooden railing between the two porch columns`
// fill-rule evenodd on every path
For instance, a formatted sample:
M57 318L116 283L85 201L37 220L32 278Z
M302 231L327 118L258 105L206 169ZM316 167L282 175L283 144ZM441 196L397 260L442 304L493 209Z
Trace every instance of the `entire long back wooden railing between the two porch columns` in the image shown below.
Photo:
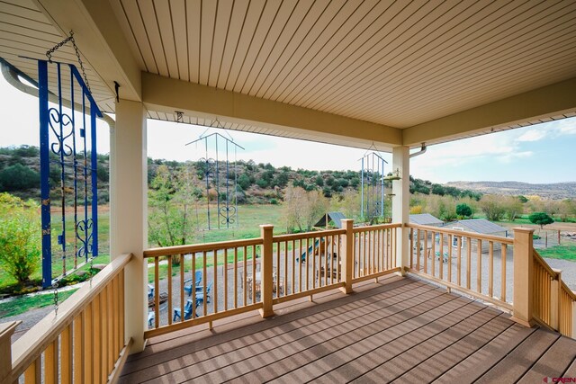
M145 337L255 309L268 317L275 304L325 290L350 292L353 282L400 271L394 259L400 224L344 222L343 229L281 236L260 226L258 238L145 251L151 259Z

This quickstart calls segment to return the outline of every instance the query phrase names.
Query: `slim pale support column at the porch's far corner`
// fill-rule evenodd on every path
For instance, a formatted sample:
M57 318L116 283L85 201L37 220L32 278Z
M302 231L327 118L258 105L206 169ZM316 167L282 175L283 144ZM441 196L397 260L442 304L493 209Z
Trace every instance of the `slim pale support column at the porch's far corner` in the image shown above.
M392 149L392 173L398 170L400 180L392 181L392 223L408 223L410 212L410 147L394 147ZM396 265L409 265L409 241L407 228L399 228L396 232Z

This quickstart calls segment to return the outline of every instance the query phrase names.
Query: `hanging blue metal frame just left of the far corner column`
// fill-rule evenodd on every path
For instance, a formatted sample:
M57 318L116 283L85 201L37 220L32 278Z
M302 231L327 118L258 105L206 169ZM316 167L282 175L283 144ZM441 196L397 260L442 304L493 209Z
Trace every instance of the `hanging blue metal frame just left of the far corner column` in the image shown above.
M366 154L361 159L360 174L360 215L362 219L373 219L384 216L384 164L382 156L375 152Z

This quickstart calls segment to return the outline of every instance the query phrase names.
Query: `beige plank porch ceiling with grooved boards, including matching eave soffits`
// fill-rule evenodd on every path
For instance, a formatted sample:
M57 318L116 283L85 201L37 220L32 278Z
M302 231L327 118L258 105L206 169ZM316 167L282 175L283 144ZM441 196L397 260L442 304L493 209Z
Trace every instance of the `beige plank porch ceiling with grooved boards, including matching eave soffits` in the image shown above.
M143 71L397 128L576 76L574 0L109 1ZM19 55L61 39L31 0L0 0L0 56L16 67L33 74ZM69 46L55 58L76 62Z

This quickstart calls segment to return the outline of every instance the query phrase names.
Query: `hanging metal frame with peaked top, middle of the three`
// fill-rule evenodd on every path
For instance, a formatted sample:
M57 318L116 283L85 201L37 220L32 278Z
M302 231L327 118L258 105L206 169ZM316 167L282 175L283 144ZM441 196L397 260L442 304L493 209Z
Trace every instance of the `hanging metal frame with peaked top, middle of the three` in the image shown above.
M210 145L211 138L213 138L213 143L215 147L215 158L211 158L209 156L208 147ZM222 198L220 194L220 187L222 178L220 177L220 158L219 158L219 147L218 143L219 140L224 140L225 143L225 198ZM206 182L206 215L208 221L208 229L215 229L215 228L229 228L230 225L236 224L238 227L238 199L236 192L238 191L238 170L236 169L236 155L238 148L244 149L244 147L240 147L236 144L233 140L229 138L225 138L224 136L220 135L220 133L212 133L211 135L204 136L198 138L197 140L193 140L186 144L186 146L198 142L204 143L204 150L206 155L200 159L200 163L203 163L203 176ZM230 191L229 191L229 184L230 184L230 162L229 162L229 145L232 145L234 148L234 190L232 197L230 198ZM210 210L210 183L213 183L216 187L216 215L217 215L217 225L214 226L211 222L211 210ZM222 187L222 190L224 188Z

